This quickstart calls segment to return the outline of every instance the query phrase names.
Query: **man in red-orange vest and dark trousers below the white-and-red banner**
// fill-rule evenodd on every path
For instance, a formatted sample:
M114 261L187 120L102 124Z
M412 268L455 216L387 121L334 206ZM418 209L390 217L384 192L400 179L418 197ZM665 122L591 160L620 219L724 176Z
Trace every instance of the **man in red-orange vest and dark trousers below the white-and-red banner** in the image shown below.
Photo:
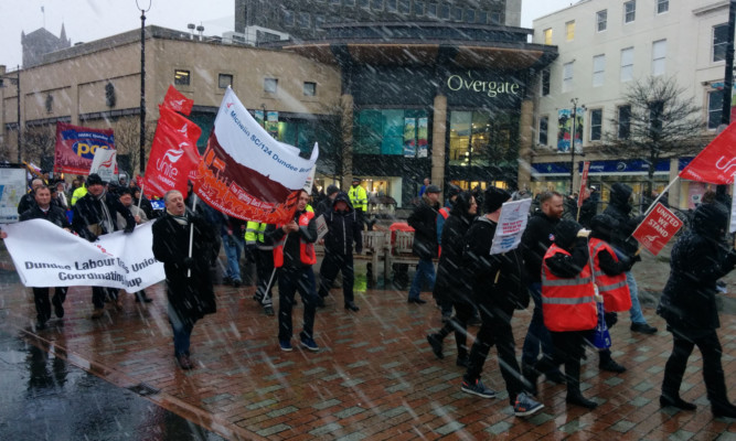
M305 305L303 330L299 333L301 346L311 352L319 351L314 342L318 297L312 271L312 265L317 263L317 225L314 213L307 211L308 201L309 193L302 190L294 218L286 224L266 228L266 237L274 243L274 267L278 268L278 342L285 352L292 351L291 310L297 291Z

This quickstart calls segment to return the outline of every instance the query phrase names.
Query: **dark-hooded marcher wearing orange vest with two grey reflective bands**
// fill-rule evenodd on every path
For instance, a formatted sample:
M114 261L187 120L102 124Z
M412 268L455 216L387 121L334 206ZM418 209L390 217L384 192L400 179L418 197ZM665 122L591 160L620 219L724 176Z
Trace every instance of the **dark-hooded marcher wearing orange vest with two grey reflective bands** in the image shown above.
M550 330L554 354L536 363L531 378L536 386L536 373L565 364L566 401L595 409L598 404L580 394L580 359L585 353L586 335L598 323L591 269L588 254L590 230L575 220L563 219L555 227L555 240L542 260L542 309L544 324Z

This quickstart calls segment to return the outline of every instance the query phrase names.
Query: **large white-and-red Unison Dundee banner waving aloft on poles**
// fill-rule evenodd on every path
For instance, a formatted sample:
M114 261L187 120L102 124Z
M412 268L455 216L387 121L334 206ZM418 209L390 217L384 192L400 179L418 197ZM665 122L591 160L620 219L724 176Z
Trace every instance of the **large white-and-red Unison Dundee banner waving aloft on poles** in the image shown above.
M296 147L271 138L228 88L193 181L194 192L228 216L288 222L318 154L317 143L311 158L305 159Z

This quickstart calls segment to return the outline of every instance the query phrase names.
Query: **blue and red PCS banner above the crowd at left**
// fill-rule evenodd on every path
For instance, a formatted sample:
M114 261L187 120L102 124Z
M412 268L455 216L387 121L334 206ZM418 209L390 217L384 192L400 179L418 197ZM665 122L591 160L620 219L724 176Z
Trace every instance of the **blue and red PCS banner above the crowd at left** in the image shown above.
M113 129L90 129L56 122L56 173L89 174L97 149L115 150Z

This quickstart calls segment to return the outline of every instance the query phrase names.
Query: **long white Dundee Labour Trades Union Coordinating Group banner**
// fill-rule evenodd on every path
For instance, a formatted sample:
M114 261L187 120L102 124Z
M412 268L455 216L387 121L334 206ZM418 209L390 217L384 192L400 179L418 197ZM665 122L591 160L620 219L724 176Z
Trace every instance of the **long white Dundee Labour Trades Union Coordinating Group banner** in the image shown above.
M153 258L152 222L89 243L44 219L3 225L6 247L26 287L109 287L139 291L164 279Z

